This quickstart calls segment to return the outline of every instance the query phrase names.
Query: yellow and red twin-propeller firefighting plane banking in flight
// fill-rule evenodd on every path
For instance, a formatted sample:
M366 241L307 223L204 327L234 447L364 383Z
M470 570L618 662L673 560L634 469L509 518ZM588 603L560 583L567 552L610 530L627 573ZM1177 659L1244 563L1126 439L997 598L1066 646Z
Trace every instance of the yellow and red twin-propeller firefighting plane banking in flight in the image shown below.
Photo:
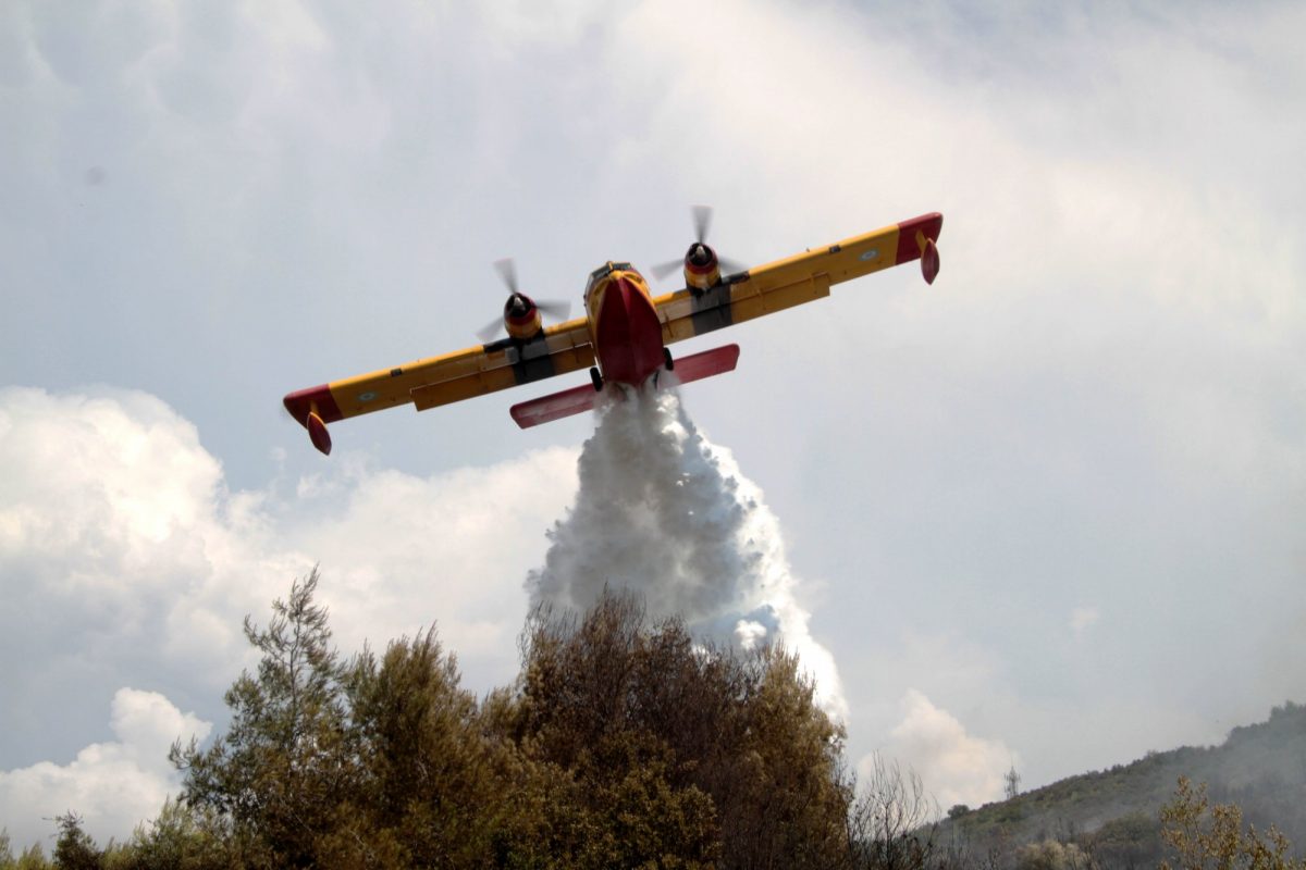
M653 296L631 263L606 262L585 284L585 316L543 326L541 310L554 314L558 308L522 293L512 262L500 261L508 301L502 323L496 318L492 331L482 333L486 343L298 390L285 398L286 410L308 429L313 446L329 454L326 424L336 420L409 403L426 411L589 368L584 386L512 406L512 419L525 429L589 411L606 385L640 386L662 369L688 383L731 372L739 359L738 344L673 359L667 344L674 342L821 299L831 284L914 260L927 283L939 274L938 213L729 274L722 265L730 270L730 262L707 243L710 215L696 207L695 241L683 261L653 269L682 266L684 290ZM490 340L500 329L507 338Z

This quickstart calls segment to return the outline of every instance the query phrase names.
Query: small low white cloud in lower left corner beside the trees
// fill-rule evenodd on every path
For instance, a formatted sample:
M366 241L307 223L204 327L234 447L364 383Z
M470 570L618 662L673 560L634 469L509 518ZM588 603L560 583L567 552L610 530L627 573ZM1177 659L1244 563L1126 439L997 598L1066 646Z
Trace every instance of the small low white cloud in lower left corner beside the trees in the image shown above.
M212 725L183 713L155 691L119 689L110 729L115 740L91 743L67 763L38 762L0 771L0 819L21 848L44 843L56 815L77 813L103 845L154 818L180 776L167 760L174 741L204 740Z

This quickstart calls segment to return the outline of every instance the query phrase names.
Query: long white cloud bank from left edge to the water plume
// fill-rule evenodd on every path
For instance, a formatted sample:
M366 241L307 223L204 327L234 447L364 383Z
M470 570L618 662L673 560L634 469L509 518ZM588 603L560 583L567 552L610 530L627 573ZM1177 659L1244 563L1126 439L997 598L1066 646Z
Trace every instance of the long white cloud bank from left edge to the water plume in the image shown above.
M221 721L222 689L251 664L242 617L265 618L315 562L346 653L436 625L470 687L505 682L521 578L576 487L576 453L550 449L430 477L346 453L313 487L232 492L195 425L123 390L0 390L0 652L24 663L0 683L0 770L27 784L55 776L33 762L85 745L106 686L157 686ZM142 703L114 702L131 758L159 743ZM81 796L67 789L88 766L128 749L86 750L60 788ZM72 809L98 813L86 800ZM37 818L7 810L10 831Z

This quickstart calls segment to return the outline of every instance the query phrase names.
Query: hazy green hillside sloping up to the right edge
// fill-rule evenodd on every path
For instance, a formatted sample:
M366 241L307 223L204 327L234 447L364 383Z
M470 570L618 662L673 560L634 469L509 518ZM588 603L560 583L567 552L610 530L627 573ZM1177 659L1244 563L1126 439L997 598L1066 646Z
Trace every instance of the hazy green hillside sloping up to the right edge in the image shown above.
M1053 839L1092 849L1104 866L1155 866L1157 811L1179 776L1208 783L1213 801L1239 805L1258 828L1276 824L1298 854L1306 853L1306 706L1292 702L1275 707L1267 721L1234 728L1220 746L1148 753L1010 801L964 813L956 807L936 841L1010 856Z

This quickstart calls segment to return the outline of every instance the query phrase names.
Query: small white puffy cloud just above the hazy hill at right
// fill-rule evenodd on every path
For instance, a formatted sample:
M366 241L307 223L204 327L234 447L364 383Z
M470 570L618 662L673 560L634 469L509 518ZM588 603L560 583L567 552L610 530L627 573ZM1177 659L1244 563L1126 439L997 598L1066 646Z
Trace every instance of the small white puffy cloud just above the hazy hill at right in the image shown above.
M910 766L921 776L926 792L940 806L972 806L995 801L1003 794L1003 773L1019 757L1000 740L966 733L949 713L912 689L901 700L902 720L889 733L887 754ZM874 754L858 767L865 777Z

